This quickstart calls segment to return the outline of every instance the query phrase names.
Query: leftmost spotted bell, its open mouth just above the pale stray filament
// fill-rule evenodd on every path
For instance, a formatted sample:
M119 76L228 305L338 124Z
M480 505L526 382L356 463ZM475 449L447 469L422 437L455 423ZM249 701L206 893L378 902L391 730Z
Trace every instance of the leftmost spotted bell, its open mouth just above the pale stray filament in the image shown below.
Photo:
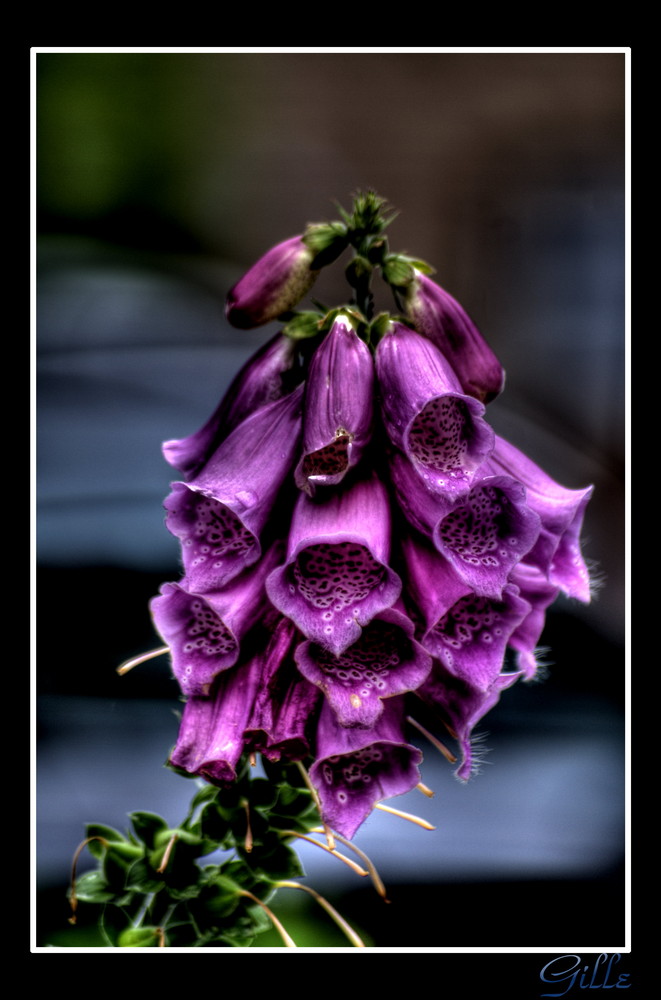
M255 566L204 595L186 580L163 584L151 612L183 694L208 694L214 677L237 662L241 640L268 609L264 583L281 558L282 547L275 544Z

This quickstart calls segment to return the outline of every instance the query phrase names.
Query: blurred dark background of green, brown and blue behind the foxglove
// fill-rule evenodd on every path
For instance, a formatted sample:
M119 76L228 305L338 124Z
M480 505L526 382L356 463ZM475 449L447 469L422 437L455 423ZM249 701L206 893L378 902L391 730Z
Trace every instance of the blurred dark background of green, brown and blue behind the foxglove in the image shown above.
M161 442L196 430L277 328L233 330L225 295L372 187L401 213L391 249L436 268L503 362L496 431L563 485L594 483L600 585L549 613L548 679L485 718L481 775L461 786L422 746L435 798L401 807L436 831L361 828L392 904L313 848L308 882L377 947L622 945L624 54L35 58L38 943L92 941L65 899L85 823L176 823L193 791L163 767L181 707L167 660L115 668L160 645L147 602L180 576ZM330 304L336 270L315 286ZM344 943L305 900L288 917L308 945Z

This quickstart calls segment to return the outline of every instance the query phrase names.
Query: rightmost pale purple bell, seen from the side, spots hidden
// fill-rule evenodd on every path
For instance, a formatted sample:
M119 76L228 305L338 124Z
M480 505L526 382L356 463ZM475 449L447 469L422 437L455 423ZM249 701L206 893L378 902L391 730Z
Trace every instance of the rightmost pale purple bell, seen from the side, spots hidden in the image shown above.
M590 575L581 554L581 528L592 486L570 490L551 479L509 441L497 437L485 462L492 475L513 476L526 488L526 501L541 519L539 539L527 556L548 574L551 584L569 597L588 603Z

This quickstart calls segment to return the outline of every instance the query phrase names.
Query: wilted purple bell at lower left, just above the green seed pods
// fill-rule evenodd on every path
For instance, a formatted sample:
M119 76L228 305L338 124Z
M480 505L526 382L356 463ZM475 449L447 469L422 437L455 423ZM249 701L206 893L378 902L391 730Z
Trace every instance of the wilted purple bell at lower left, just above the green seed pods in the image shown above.
M260 658L227 670L210 697L186 702L169 763L217 785L236 780L243 733L260 685Z

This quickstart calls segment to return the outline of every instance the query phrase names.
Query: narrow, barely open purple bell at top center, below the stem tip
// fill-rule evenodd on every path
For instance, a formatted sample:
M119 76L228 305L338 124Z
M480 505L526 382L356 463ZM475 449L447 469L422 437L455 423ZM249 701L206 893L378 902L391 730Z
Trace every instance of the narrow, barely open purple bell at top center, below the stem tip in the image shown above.
M310 496L335 486L356 465L370 440L374 365L369 348L346 316L338 316L317 348L303 411L303 455L296 485Z

